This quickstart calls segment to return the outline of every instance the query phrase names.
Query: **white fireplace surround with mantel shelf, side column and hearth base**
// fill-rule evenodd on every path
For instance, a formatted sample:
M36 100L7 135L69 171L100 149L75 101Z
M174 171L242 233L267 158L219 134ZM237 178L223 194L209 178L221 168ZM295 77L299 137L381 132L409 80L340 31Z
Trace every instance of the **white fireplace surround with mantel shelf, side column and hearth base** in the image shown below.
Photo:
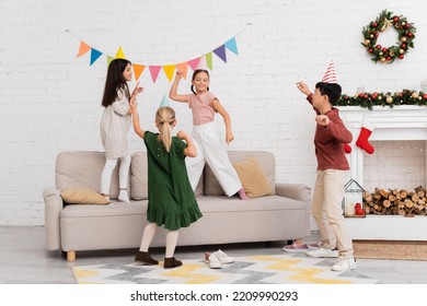
M350 177L363 186L363 151L356 146L363 120L373 125L369 140L427 140L427 107L417 105L339 106L339 115L353 133L353 151L347 154ZM427 216L367 215L346 217L353 239L362 240L427 240Z

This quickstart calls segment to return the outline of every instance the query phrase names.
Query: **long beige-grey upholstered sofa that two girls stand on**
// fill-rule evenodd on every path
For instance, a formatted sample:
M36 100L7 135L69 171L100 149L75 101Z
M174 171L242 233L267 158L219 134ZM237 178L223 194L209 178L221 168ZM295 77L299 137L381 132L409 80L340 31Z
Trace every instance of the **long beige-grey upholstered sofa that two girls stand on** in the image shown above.
M178 246L278 242L310 235L310 188L301 184L276 183L275 156L264 151L230 151L231 162L256 157L273 195L242 201L224 196L208 166L196 189L204 216L180 232ZM100 190L104 153L60 152L55 167L55 186L43 190L46 247L67 252L139 248L147 224L147 156L136 152L129 172L130 203L107 205L66 204L60 192L68 188ZM118 167L113 173L111 198L118 196ZM164 246L159 228L151 247Z

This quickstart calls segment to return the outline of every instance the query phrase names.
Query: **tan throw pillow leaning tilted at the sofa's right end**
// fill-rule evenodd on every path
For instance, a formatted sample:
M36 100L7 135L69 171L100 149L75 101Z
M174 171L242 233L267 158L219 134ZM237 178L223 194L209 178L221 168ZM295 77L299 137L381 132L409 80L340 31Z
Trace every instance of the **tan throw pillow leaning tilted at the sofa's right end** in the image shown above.
M249 198L258 198L273 193L267 177L255 157L234 163L233 166Z

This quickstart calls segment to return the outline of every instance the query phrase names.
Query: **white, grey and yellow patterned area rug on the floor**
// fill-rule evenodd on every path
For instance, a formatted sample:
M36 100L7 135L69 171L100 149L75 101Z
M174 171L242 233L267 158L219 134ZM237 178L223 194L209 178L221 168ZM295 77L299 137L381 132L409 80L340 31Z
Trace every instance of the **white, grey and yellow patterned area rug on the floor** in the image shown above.
M78 284L373 284L378 280L356 270L333 272L332 259L305 255L238 257L221 269L204 260L183 260L183 266L97 264L72 268Z

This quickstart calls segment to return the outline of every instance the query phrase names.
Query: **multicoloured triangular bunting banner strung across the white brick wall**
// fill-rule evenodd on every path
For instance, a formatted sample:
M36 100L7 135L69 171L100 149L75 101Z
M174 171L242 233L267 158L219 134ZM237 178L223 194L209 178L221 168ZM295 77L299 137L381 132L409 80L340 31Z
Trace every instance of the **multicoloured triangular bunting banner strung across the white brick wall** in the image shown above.
M231 37L230 39L228 39L226 43L223 43L219 47L215 48L214 50L206 52L206 54L203 54L200 57L189 59L189 60L186 60L183 62L168 63L168 64L159 66L159 64L134 63L129 59L132 62L135 80L136 81L139 80L139 78L142 75L142 73L146 71L147 67L148 67L147 71L149 71L153 83L155 83L155 81L158 80L161 71L163 71L163 73L165 74L169 82L172 81L174 72L176 70L180 70L181 72L183 72L183 76L184 76L184 79L186 79L187 72L188 72L188 67L193 71L196 69L209 69L212 71L214 70L214 59L212 59L214 56L212 55L216 55L224 63L227 63L227 51L229 51L229 52L231 51L234 55L239 55L238 44L236 44L235 37L250 25L251 25L251 23L247 23L245 25L245 27L243 27L238 34L235 34L233 37ZM68 30L66 32L73 35ZM101 50L95 49L94 47L89 45L86 42L83 42L82 39L78 38L76 35L73 35L73 36L74 36L74 38L77 38L80 42L79 50L78 50L76 57L80 58L86 54L90 54L89 66L92 66L97 59L100 59L101 56L106 56L107 66L112 62L112 60L114 60L116 58L123 58L123 59L126 58L125 52L122 49L122 46L118 47L116 55L113 57L113 56L105 55L105 52L103 52Z

